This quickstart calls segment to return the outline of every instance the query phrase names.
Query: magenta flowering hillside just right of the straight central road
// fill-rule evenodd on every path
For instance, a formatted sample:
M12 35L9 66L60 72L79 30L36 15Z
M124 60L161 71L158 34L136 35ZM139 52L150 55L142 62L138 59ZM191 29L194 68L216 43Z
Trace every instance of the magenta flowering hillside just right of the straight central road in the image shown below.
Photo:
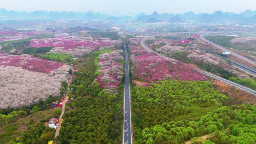
M177 79L177 80L207 80L207 78L196 71L193 67L185 65L174 59L164 59L155 52L149 52L144 48L138 48L139 38L129 39L129 49L132 53L132 73L137 79L147 82Z

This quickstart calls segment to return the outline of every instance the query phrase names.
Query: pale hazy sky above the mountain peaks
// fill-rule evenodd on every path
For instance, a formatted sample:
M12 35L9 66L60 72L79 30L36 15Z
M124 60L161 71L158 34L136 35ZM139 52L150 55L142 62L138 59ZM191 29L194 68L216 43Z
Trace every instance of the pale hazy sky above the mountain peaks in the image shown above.
M256 10L256 0L0 0L0 7L7 10L48 10L113 12L121 13L213 13L215 10L240 13Z

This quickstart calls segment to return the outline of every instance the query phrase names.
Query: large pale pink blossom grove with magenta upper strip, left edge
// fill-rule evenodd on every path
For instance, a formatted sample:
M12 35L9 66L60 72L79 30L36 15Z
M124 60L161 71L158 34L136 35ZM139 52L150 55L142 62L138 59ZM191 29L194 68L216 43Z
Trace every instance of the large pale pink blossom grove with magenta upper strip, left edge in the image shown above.
M59 96L61 82L68 81L70 65L0 52L0 108L30 105Z

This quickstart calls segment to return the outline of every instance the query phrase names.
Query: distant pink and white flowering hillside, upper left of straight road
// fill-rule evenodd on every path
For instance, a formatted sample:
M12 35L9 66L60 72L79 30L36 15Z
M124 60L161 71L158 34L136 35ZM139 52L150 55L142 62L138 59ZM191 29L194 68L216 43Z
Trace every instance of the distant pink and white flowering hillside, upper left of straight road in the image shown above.
M55 35L52 39L33 39L28 47L54 47L50 52L67 53L73 57L81 57L93 50L110 48L115 49L115 45L121 45L120 40L110 40L108 38L92 38L80 36L68 36L67 34Z

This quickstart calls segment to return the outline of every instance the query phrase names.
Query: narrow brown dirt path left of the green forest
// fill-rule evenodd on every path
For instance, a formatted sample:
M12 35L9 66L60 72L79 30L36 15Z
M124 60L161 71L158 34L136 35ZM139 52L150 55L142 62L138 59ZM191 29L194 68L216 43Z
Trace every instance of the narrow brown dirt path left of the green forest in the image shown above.
M72 79L73 79L73 74L72 74L71 78L68 80L67 89L69 88ZM57 138L57 137L60 135L60 128L61 128L62 116L63 116L63 114L65 113L65 107L66 107L66 102L67 102L67 92L68 92L68 91L66 91L65 97L64 97L63 102L62 102L62 108L61 108L61 114L60 114L60 118L59 118L59 124L58 124L58 126L57 126L57 128L56 128L56 131L55 131L53 144L56 144L56 143L57 143L57 140L56 140L55 138Z

